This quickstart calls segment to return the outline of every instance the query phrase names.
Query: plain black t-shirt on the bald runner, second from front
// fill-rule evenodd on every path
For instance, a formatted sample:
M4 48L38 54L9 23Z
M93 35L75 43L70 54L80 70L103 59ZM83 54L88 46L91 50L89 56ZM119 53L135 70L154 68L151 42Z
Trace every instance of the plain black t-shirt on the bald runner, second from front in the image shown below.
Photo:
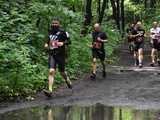
M99 50L104 50L104 43L101 41L98 41L97 38L100 37L102 40L107 39L107 35L105 32L93 32L92 33L92 45L93 49L99 49Z

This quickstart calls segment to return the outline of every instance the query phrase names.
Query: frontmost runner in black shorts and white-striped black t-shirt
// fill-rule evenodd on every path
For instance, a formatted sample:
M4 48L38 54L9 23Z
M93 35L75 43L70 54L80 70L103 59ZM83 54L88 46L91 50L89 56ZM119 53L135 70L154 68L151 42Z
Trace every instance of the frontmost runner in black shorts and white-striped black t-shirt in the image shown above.
M46 48L49 48L49 76L48 76L48 88L44 93L48 96L52 96L52 87L54 83L54 76L56 67L58 65L59 72L64 78L68 88L72 88L72 83L69 77L65 73L65 46L69 42L69 34L60 28L59 20L55 19L52 21L51 31L49 32L48 43L45 44Z

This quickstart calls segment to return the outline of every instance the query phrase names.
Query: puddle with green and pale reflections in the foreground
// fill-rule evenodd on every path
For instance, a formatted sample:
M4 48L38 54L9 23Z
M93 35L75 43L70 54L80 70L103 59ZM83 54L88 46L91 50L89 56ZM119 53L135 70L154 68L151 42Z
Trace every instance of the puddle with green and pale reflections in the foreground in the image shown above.
M160 110L136 110L103 105L41 106L0 114L0 120L160 120L159 113Z

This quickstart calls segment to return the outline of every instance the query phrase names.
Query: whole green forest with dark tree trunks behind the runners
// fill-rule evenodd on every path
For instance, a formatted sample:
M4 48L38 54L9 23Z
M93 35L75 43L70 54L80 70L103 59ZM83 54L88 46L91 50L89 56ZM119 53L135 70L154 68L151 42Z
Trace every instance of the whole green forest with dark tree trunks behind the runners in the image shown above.
M44 44L53 18L69 32L67 72L72 80L90 72L93 24L108 35L107 63L125 40L128 24L142 21L149 31L160 21L159 0L0 0L0 100L29 99L47 87ZM63 83L56 75L55 89Z

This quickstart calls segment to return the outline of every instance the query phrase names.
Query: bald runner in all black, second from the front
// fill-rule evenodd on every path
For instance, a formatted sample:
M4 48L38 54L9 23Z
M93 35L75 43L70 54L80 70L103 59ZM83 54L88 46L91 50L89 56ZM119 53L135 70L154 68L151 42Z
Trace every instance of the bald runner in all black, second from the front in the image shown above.
M92 56L93 56L93 63L92 63L92 75L91 79L94 80L96 78L96 61L97 58L100 59L101 64L103 66L102 76L106 77L106 70L105 70L105 48L104 43L107 42L107 35L106 33L101 31L101 27L98 23L94 25L94 31L92 33Z

